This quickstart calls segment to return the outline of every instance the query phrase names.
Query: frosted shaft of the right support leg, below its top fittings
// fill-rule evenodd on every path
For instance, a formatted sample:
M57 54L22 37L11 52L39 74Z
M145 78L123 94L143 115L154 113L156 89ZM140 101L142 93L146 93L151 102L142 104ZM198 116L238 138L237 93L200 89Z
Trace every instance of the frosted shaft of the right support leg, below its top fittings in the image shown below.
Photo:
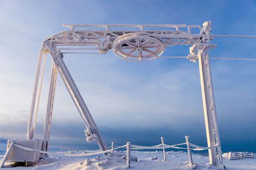
M202 88L202 99L204 105L207 144L209 147L218 145L217 150L216 148L209 149L209 160L212 166L222 166L223 162L216 118L211 66L209 61L209 53L207 50L205 50L205 48L198 52L198 62Z

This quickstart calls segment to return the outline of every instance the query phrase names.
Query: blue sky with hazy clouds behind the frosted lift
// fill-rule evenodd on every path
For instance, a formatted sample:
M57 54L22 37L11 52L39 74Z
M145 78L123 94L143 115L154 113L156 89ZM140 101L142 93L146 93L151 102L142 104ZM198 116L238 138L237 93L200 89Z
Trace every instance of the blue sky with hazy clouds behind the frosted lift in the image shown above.
M26 138L41 43L62 24L186 24L212 21L212 34L256 35L255 1L0 1L0 137ZM214 38L210 57L256 58L253 38ZM187 56L173 46L163 56ZM109 145L207 145L198 62L129 62L109 50L64 55L100 133ZM211 60L221 145L256 152L256 61ZM36 138L42 138L51 71L47 56ZM60 76L52 116L52 146L93 148Z

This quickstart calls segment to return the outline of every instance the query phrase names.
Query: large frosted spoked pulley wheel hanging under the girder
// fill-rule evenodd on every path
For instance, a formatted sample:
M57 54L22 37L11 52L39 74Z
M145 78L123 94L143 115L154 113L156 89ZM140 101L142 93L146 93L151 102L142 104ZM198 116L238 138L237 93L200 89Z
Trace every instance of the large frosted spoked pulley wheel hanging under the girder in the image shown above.
M163 54L164 43L161 38L138 32L116 38L113 50L115 55L124 60L152 60Z

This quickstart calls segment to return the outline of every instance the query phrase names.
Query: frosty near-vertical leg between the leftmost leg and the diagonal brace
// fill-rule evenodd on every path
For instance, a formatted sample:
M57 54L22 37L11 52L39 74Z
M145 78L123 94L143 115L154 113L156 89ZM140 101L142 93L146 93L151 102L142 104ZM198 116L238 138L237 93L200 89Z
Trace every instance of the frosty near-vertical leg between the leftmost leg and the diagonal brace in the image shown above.
M45 122L44 122L44 144L43 150L48 150L48 142L50 136L50 129L51 129L51 122L52 122L52 109L54 103L54 94L55 94L55 87L56 87L56 78L57 78L57 69L52 61L52 70L51 70L51 80L50 80L50 87L49 87L49 96L47 102L47 109L45 115Z

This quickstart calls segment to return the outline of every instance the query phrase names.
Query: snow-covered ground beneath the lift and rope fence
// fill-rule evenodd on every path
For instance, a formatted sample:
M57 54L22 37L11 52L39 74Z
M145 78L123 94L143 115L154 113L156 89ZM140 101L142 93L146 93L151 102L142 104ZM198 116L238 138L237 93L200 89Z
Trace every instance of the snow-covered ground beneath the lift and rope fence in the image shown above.
M6 143L0 142L0 161L3 159L3 150ZM117 151L110 157L103 155L93 155L90 157L77 156L90 151L67 151L60 152L58 148L50 158L41 160L37 166L12 167L12 169L126 169L125 151ZM61 154L65 153L65 154ZM163 160L163 152L138 152L132 151L131 155L138 158L138 161L131 162L131 169L189 169L188 153L186 152L166 152L167 161ZM227 169L246 170L256 169L256 159L228 160L227 153L223 154L224 165ZM209 158L203 155L193 154L193 162L198 165L197 169L218 169L207 166Z

